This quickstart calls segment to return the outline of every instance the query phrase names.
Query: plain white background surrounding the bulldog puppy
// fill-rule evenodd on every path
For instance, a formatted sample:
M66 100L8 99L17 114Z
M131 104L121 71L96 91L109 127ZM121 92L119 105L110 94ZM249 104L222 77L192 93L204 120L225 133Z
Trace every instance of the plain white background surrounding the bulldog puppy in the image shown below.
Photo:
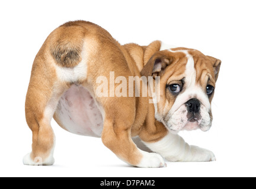
M254 1L247 0L1 1L0 176L256 176L255 7ZM23 165L23 156L31 151L24 103L34 57L50 32L76 19L101 25L121 44L162 40L222 60L212 129L181 133L189 144L212 150L216 162L130 167L105 148L101 139L73 135L53 120L55 165Z

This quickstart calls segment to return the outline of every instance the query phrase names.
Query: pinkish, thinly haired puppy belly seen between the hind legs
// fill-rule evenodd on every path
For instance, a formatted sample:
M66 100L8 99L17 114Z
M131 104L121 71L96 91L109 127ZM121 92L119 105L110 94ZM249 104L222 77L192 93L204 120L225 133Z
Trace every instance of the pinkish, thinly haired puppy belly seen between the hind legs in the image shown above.
M96 103L87 89L72 85L59 100L55 120L69 132L100 137L103 116Z

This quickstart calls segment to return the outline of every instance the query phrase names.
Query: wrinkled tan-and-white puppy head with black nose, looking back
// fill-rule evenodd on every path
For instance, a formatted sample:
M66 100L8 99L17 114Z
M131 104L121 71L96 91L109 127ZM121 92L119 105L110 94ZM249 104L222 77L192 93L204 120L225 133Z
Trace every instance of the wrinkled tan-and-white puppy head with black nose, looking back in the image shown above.
M159 42L152 45L156 50ZM212 126L211 102L221 61L189 48L149 49L145 51L144 60L147 56L148 60L141 74L160 76L156 83L160 91L153 96L155 118L171 132L198 128L208 131Z

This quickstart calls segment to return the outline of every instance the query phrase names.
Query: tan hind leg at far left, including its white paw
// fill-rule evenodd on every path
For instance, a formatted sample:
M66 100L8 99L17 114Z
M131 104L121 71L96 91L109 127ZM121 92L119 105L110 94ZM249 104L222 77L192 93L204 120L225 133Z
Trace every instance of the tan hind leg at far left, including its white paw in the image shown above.
M55 134L50 121L64 92L49 70L34 66L25 102L27 124L33 133L32 152L25 155L25 165L52 165ZM48 74L45 74L48 73ZM50 77L52 76L52 77Z

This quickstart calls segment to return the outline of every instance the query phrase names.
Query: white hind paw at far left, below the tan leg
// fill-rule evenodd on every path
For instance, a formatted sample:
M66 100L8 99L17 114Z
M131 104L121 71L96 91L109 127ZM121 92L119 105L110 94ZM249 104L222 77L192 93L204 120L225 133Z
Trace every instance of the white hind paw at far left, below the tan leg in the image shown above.
M41 157L31 159L30 153L25 155L23 158L24 165L53 165L54 162L55 159L51 155L48 158L44 159L44 161Z

